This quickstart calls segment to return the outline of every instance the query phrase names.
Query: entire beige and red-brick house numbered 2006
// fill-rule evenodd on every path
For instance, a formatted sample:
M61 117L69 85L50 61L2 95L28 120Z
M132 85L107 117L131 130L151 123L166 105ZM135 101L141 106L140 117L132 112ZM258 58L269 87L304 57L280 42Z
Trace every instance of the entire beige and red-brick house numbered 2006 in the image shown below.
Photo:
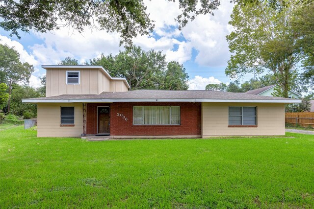
M38 137L206 138L284 135L285 104L300 100L218 91L129 91L100 66L42 66Z

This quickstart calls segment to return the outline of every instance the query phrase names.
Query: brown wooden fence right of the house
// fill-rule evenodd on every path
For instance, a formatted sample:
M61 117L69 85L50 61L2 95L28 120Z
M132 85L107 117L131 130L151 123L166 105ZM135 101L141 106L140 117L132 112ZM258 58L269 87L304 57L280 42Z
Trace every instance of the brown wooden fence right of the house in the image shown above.
M314 112L286 113L286 124L314 128Z

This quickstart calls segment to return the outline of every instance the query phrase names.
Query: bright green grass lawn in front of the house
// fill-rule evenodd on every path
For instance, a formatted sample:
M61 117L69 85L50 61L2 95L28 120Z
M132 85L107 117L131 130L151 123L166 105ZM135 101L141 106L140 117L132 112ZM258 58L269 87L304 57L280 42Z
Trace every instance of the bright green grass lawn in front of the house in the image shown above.
M0 208L313 208L314 136L112 140L0 131Z

